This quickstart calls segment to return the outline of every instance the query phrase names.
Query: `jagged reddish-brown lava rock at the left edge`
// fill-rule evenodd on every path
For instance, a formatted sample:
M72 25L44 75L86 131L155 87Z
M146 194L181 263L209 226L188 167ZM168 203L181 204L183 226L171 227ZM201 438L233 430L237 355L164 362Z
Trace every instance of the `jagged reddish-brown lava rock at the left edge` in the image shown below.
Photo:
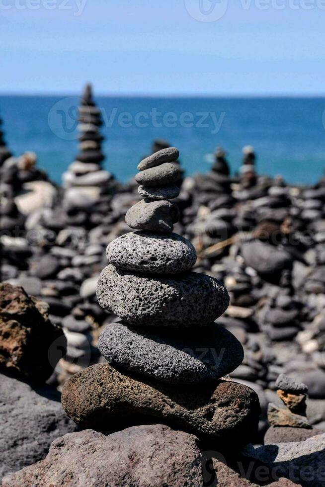
M21 287L0 284L0 365L37 382L45 382L66 348L60 326L48 306Z

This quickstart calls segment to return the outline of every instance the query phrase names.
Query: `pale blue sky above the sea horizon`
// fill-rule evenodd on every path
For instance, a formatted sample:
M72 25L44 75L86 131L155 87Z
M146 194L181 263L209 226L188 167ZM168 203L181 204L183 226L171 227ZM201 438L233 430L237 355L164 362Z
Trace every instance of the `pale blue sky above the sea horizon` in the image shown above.
M213 1L0 0L0 93L325 93L325 0Z

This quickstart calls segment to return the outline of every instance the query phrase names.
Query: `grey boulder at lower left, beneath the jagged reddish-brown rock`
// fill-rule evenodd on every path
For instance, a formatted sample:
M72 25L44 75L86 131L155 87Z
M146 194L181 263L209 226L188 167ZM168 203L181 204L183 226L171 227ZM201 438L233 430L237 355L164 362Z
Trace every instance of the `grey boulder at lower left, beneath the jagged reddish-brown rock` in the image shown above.
M55 438L76 429L65 415L55 389L34 388L0 376L0 479L42 460Z

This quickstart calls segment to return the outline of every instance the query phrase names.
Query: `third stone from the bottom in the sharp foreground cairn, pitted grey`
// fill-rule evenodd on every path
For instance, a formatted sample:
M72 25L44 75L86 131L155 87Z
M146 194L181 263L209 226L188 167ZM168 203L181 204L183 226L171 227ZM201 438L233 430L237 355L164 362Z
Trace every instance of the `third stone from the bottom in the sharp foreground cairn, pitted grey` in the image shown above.
M204 326L229 305L225 286L205 274L150 277L105 267L98 280L100 306L134 325Z

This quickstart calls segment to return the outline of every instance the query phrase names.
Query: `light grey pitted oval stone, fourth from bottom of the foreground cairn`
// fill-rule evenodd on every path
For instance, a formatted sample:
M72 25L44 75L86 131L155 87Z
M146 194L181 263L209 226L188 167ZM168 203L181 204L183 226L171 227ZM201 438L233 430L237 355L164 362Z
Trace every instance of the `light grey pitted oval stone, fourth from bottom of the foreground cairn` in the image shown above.
M184 237L143 231L113 240L106 256L119 269L143 274L177 274L189 270L196 261L195 248Z

